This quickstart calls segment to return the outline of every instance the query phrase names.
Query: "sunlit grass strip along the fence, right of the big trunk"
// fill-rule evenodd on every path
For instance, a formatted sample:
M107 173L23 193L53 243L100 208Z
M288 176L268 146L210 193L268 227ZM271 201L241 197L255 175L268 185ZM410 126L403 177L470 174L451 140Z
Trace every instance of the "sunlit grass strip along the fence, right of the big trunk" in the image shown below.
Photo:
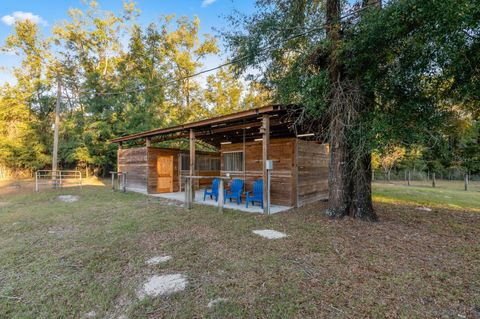
M437 181L435 188L426 181L413 181L411 186L404 182L375 182L373 193L378 202L480 211L480 182L470 182L468 188L464 190L462 181Z

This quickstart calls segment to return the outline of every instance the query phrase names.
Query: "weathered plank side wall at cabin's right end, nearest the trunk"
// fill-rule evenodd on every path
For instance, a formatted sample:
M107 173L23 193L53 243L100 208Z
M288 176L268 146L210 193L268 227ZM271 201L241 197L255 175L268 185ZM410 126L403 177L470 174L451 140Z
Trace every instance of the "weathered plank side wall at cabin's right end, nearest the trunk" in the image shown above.
M328 198L328 144L297 140L298 206Z

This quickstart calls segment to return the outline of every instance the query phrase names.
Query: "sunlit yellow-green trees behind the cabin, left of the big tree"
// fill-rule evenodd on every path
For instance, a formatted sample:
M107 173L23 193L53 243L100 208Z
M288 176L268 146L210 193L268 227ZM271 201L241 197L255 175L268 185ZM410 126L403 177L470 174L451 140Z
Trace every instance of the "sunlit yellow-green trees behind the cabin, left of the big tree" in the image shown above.
M143 27L139 14L132 2L115 14L90 1L87 10L69 10L48 38L29 20L16 22L2 47L22 60L16 85L1 88L1 174L49 167L58 81L60 167L98 173L116 163L110 138L267 101L260 85L244 84L230 69L210 74L206 85L185 79L219 53L217 39L199 33L197 17L164 15Z

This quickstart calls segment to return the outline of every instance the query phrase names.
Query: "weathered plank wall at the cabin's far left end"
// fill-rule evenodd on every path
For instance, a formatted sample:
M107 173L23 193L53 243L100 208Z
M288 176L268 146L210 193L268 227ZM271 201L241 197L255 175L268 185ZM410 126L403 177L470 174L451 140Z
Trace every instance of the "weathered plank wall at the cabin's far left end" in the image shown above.
M127 173L127 188L147 191L147 148L119 149L118 171Z

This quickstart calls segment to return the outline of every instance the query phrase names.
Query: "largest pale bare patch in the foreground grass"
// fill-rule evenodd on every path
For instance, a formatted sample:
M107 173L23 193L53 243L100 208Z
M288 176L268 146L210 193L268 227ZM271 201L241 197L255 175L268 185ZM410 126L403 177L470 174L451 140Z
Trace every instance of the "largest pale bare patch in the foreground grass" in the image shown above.
M170 295L185 290L186 287L187 279L182 274L152 276L143 284L142 289L137 292L137 295L140 299L147 296L157 297Z

